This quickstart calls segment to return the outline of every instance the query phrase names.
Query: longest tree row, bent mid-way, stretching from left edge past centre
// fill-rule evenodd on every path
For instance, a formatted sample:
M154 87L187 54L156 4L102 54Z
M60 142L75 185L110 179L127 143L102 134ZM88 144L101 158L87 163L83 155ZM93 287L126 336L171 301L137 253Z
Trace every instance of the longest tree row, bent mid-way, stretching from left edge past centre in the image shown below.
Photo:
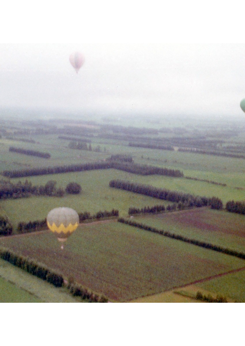
M3 171L2 175L8 178L19 178L33 175L45 175L45 174L60 174L67 172L82 172L90 170L103 170L103 169L117 169L120 171L126 171L140 175L167 175L174 177L183 177L183 172L179 170L170 170L167 168L138 165L131 162L118 162L118 161L107 161L107 162L93 162L79 165L69 166L57 166L57 167L39 167L31 168L26 170L14 170L14 171Z

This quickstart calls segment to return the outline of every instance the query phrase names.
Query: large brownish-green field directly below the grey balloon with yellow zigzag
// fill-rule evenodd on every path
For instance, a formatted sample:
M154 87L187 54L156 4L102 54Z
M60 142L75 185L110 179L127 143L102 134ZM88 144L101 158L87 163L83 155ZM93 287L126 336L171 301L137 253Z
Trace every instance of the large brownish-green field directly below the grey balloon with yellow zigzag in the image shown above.
M111 300L160 293L244 266L244 261L118 222L80 226L64 251L48 231L0 238Z

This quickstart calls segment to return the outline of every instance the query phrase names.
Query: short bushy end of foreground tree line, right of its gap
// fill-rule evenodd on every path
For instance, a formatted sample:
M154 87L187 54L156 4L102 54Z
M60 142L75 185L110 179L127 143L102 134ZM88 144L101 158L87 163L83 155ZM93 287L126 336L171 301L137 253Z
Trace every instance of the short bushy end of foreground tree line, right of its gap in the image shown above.
M108 303L108 299L103 295L99 296L94 294L87 288L84 288L82 285L75 283L72 278L69 278L68 286L70 293L74 297L81 297L81 299L88 300L90 303Z

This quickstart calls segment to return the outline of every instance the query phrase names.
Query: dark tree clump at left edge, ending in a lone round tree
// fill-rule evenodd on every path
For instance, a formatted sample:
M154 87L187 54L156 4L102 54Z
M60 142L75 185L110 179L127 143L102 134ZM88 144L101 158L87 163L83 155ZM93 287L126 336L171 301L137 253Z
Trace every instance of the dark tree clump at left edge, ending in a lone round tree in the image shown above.
M78 183L71 182L66 185L64 190L61 187L56 187L55 180L49 180L45 185L40 186L32 185L32 183L27 180L25 183L19 181L16 184L3 180L0 182L0 199L26 198L31 195L63 197L65 192L78 194L81 192L81 186Z

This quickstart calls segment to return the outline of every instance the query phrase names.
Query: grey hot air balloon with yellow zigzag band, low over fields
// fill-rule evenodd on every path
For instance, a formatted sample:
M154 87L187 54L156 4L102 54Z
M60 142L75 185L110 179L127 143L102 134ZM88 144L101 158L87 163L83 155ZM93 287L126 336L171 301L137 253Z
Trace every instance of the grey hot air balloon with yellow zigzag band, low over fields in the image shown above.
M78 213L71 208L54 208L47 215L48 228L56 235L59 242L65 242L79 225ZM64 246L61 245L63 250Z

